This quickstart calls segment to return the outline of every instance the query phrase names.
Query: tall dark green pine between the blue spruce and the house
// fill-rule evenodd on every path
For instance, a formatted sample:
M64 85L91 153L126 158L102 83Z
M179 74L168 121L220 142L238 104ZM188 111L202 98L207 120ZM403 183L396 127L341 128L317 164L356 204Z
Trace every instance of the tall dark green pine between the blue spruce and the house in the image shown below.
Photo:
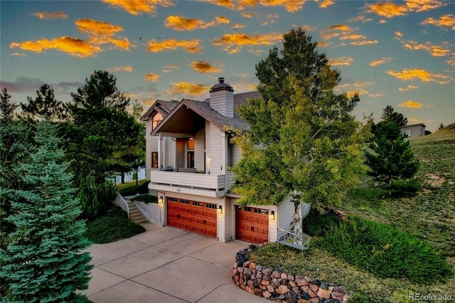
M126 111L129 98L116 86L116 78L98 70L78 88L68 105L68 151L77 173L98 183L125 163L124 154L139 144L141 126Z

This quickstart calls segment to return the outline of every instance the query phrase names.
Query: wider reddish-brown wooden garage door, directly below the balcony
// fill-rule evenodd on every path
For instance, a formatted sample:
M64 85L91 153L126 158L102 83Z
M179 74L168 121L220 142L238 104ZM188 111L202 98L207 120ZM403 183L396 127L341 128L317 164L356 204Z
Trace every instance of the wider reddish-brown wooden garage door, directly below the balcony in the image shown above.
M216 204L166 198L169 226L216 238Z

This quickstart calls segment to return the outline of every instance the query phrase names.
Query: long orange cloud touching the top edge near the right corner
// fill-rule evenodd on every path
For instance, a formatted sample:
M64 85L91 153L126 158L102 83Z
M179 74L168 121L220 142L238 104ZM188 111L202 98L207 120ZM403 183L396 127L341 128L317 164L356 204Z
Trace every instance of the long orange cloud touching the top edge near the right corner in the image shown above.
M410 11L429 11L444 6L446 3L439 0L406 0L405 4L395 4L393 2L378 2L366 4L368 13L374 13L385 18L405 16Z

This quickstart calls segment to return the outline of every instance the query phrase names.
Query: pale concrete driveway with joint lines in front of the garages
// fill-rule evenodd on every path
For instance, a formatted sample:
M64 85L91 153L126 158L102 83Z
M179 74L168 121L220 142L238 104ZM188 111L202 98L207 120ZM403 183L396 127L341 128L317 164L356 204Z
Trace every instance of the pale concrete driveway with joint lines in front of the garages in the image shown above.
M235 254L246 243L143 226L132 238L87 249L95 268L83 293L92 302L267 302L231 280Z

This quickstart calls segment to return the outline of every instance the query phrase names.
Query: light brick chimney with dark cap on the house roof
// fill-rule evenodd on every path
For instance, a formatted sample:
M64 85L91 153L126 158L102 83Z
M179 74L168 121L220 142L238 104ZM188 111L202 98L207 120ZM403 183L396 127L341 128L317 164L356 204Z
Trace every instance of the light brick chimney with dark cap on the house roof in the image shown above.
M234 89L225 78L218 78L218 84L210 87L210 107L225 117L234 117Z

